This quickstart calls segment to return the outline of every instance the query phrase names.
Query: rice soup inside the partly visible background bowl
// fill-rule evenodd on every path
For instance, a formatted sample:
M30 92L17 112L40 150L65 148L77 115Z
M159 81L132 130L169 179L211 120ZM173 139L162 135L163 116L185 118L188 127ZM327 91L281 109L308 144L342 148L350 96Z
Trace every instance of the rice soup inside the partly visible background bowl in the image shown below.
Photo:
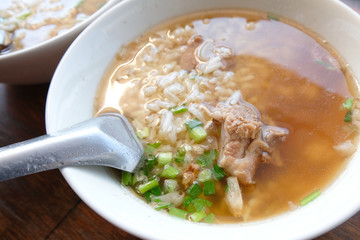
M93 14L107 0L1 0L0 54L55 37Z

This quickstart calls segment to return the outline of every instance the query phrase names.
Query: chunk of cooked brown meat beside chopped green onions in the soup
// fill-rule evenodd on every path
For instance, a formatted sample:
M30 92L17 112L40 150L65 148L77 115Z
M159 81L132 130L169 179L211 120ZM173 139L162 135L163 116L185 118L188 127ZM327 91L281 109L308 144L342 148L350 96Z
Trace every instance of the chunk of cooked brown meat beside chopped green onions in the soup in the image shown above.
M259 111L244 101L239 91L209 110L221 123L218 165L237 177L240 184L253 184L258 165L271 162L273 146L285 140L288 130L264 125Z

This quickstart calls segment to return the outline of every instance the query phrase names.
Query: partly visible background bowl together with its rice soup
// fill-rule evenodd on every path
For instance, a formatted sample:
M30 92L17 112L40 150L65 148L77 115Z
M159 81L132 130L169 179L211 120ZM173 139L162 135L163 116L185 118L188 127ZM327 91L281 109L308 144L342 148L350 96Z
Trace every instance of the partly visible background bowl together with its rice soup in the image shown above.
M67 47L119 0L5 0L0 6L0 82L49 82Z

